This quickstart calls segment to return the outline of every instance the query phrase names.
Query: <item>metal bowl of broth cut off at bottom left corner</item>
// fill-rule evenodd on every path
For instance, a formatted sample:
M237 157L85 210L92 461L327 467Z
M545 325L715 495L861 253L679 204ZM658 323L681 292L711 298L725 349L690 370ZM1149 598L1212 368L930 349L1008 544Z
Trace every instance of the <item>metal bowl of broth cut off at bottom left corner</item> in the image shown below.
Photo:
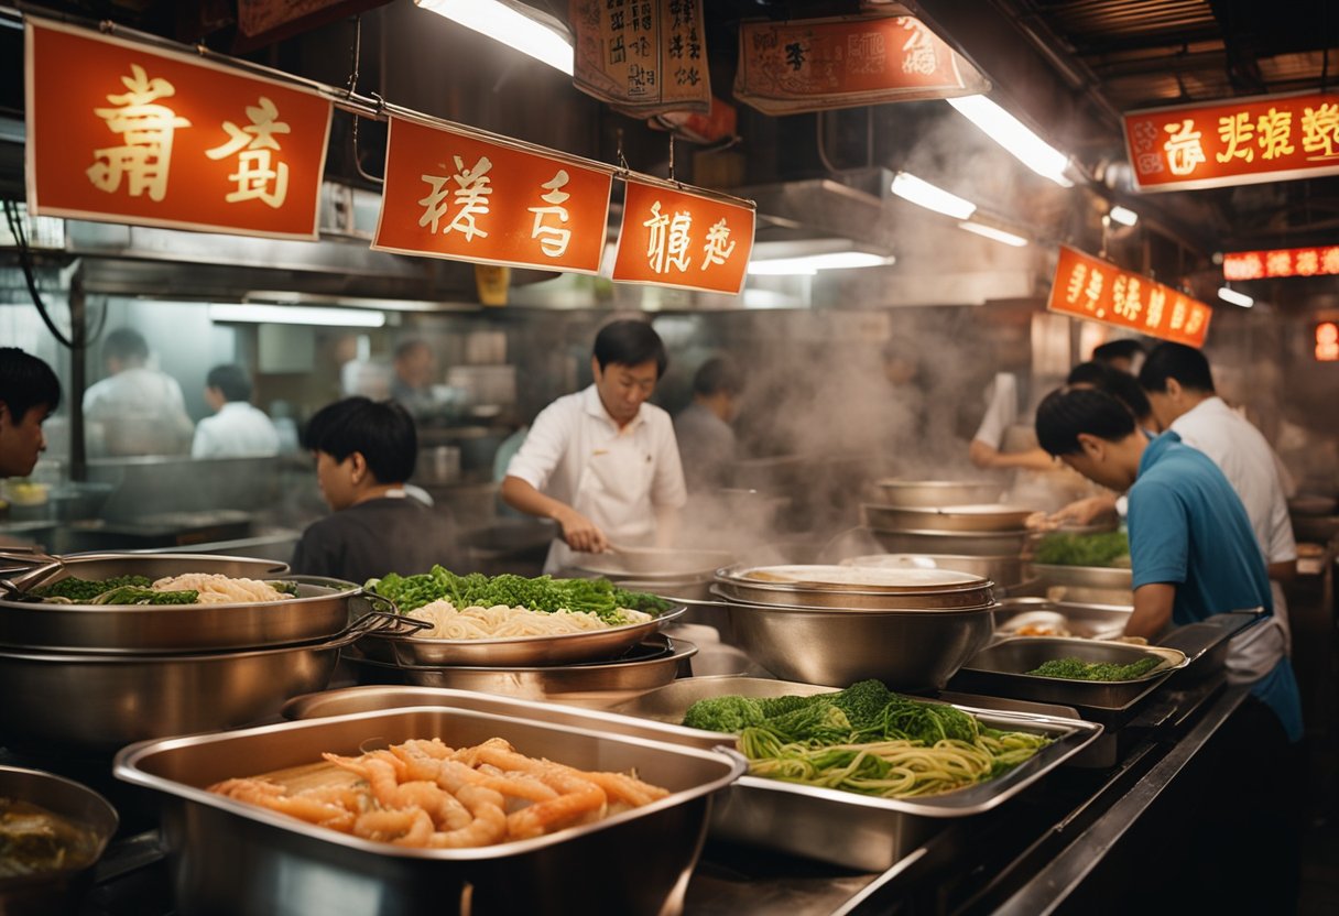
M116 809L88 786L42 770L0 766L0 797L39 805L91 830L96 844L92 858L78 869L0 880L0 913L4 916L55 916L75 913L87 892L92 865L116 832Z

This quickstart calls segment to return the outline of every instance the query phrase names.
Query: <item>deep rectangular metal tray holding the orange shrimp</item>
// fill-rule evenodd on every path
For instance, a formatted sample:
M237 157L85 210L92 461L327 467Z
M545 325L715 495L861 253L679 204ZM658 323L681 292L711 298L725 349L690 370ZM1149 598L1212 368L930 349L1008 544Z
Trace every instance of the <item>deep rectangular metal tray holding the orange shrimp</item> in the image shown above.
M221 779L359 754L410 738L462 746L493 737L581 769L635 770L671 795L599 824L482 849L402 849L205 791ZM486 712L416 708L143 742L118 778L163 798L175 905L189 913L293 916L676 912L710 795L743 771L723 753ZM617 862L599 869L599 862Z

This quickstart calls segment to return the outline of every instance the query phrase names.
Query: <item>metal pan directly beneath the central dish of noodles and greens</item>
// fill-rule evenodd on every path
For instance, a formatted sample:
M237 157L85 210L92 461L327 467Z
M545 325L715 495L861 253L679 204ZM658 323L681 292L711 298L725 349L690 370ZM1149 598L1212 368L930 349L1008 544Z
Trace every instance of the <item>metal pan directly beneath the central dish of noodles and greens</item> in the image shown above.
M419 667L349 659L363 683L479 690L536 700L611 706L687 675L698 647L656 633L611 662L532 668Z

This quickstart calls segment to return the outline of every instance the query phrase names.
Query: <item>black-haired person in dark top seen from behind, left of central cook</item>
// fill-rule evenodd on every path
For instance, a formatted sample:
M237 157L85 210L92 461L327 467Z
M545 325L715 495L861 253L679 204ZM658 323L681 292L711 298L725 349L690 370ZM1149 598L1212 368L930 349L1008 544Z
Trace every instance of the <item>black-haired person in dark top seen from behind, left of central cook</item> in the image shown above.
M418 434L394 400L347 398L307 425L303 446L316 457L316 481L335 514L303 532L293 572L353 583L386 573L415 575L434 564L457 568L450 514L408 497Z

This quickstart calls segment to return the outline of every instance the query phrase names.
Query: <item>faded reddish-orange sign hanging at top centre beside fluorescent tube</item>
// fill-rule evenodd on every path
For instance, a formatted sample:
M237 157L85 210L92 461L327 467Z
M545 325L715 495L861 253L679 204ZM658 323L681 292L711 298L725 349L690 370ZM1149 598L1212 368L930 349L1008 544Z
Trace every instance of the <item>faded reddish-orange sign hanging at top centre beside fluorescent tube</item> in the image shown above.
M739 25L735 98L766 114L943 99L986 79L913 16L837 16Z

